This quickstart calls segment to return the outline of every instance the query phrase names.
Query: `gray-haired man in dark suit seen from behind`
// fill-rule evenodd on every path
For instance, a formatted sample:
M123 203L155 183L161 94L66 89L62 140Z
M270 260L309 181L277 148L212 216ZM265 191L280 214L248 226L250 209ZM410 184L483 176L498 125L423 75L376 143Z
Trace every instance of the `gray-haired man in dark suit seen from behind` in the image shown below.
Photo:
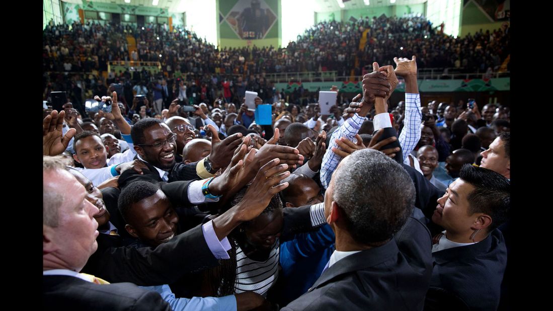
M414 201L408 173L383 153L363 149L343 159L325 193L336 251L314 286L283 310L420 310L429 273L422 258L400 252L408 232L393 238Z

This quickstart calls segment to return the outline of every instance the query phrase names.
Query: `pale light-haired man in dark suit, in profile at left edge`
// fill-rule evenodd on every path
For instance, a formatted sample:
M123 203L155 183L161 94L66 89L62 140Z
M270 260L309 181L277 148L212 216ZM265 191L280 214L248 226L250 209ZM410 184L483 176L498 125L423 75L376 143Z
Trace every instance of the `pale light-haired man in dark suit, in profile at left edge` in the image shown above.
M61 160L46 157L43 167L44 305L74 310L171 310L158 293L131 283L105 284L77 273L96 251L94 216L99 210Z

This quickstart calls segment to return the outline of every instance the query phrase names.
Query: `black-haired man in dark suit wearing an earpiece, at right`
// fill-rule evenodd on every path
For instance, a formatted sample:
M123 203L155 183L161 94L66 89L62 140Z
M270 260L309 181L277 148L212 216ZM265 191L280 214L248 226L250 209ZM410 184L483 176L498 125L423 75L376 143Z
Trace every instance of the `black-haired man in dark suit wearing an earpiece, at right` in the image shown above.
M507 219L509 206L507 178L493 170L463 166L432 215L432 222L445 230L434 238L425 309L497 309L507 264L507 248L497 227Z

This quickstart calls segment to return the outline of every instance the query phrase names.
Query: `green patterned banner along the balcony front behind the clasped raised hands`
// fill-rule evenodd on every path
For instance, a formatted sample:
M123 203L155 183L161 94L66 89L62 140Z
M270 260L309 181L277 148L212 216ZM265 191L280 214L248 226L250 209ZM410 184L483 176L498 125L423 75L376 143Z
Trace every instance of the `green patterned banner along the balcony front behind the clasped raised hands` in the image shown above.
M510 90L510 78L508 77L490 80L419 80L418 82L421 92L492 92ZM275 83L275 88L277 90L284 89L286 93L291 93L300 87L310 92L316 92L329 90L332 85L338 86L339 92L362 93L362 86L359 81ZM403 81L395 88L395 92L405 92Z

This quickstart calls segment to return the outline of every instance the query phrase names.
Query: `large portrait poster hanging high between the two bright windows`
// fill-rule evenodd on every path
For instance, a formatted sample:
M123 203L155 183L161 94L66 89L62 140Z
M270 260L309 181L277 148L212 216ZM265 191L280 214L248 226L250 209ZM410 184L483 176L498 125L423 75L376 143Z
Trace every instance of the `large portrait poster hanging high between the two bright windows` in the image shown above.
M220 39L278 39L278 0L220 0Z

